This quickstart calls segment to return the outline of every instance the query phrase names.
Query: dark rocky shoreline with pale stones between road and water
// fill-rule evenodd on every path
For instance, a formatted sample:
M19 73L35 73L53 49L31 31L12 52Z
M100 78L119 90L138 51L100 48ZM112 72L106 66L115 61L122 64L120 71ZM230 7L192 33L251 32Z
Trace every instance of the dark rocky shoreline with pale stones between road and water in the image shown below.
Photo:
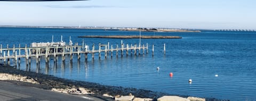
M133 100L159 100L164 94L150 90L124 88L100 85L99 83L67 80L42 73L17 70L12 66L0 64L0 80L22 81L19 85L31 86L46 90L59 91L68 94L94 94L100 97L107 96L108 100L122 100L132 97ZM175 95L175 97L180 95ZM187 98L188 96L180 96ZM195 99L195 98L194 98ZM196 98L198 99L198 98ZM193 100L193 99L190 99ZM202 98L201 100L218 100L215 98Z

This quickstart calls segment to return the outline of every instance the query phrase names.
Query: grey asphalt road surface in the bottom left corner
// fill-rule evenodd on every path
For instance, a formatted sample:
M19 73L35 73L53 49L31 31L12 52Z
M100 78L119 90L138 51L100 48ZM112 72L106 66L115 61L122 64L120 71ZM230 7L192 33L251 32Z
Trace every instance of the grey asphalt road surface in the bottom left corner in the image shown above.
M17 83L0 81L0 101L2 100L104 100L90 95L69 95L35 87L21 86Z

